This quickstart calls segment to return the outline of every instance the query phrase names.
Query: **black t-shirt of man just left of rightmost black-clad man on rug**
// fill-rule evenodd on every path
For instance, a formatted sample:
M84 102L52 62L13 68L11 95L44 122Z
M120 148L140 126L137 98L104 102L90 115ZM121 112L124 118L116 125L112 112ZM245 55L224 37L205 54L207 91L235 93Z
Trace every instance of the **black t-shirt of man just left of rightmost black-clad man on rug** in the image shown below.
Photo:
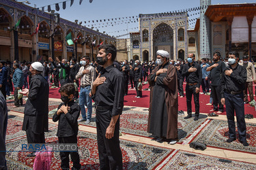
M225 69L226 67L223 61L218 61L217 63L218 66L214 67L210 73L212 86L221 86L221 73L223 72L223 69Z

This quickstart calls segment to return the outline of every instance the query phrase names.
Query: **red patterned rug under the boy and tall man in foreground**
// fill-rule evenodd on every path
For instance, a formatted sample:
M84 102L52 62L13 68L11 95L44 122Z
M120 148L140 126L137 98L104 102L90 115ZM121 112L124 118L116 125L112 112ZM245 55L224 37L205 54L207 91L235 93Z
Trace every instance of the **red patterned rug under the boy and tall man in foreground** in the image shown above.
M46 135L46 143L57 143L57 129ZM7 143L7 150L20 150L21 144L27 143L27 139L17 139ZM79 131L79 155L81 158L82 169L99 169L98 145L95 134ZM124 169L154 169L163 158L173 150L149 146L130 141L120 141L123 156ZM27 169L33 167L34 158L28 158L27 152L7 152L8 169ZM53 152L51 169L60 168L59 152ZM70 167L72 163L70 162Z

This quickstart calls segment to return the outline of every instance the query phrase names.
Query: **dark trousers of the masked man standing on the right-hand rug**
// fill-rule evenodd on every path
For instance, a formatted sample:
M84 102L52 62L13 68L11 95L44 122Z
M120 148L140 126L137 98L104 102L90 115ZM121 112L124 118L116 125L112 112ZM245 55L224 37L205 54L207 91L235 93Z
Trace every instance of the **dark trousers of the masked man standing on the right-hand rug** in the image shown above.
M236 139L236 124L234 114L236 111L236 120L238 122L238 134L240 141L246 141L246 124L244 120L244 94L231 95L224 92L225 105L227 112L227 122L229 124L229 138Z

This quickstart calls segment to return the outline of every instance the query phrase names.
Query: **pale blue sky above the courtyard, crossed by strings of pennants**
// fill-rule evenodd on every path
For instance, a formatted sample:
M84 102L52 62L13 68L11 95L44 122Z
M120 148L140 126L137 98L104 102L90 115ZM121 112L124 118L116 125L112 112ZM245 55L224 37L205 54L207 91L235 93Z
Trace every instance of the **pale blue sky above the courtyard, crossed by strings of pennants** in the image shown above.
M24 0L17 0L24 1ZM59 3L60 10L57 12L60 14L61 18L70 20L79 20L83 22L83 26L91 28L91 22L89 20L103 20L111 18L125 18L128 16L139 16L139 14L156 14L162 12L172 12L175 10L186 10L191 7L199 7L200 0L93 0L89 3L89 0L83 0L81 5L79 5L80 0L74 0L73 5L70 7L70 0L66 2L66 10L62 9L62 2L64 0L28 0L31 7L41 7L51 5L51 10L55 10L55 3ZM227 4L227 3L255 3L255 0L212 0L213 4ZM28 4L26 4L28 5ZM44 7L45 11L47 7ZM199 18L199 14L193 15L197 12L189 12L192 14L189 19ZM118 20L118 19L117 19ZM84 21L87 21L86 24ZM139 31L139 22L117 22L124 24L114 24L113 27L106 24L94 25L94 30L99 29L101 33L105 31L108 35L114 35L115 37L119 35L125 35L129 32ZM193 21L194 22L194 21ZM191 23L189 26L194 27L195 23ZM98 22L99 23L99 22ZM102 27L104 26L104 27ZM97 28L96 28L97 27ZM122 38L126 36L121 36ZM121 38L120 37L120 38Z

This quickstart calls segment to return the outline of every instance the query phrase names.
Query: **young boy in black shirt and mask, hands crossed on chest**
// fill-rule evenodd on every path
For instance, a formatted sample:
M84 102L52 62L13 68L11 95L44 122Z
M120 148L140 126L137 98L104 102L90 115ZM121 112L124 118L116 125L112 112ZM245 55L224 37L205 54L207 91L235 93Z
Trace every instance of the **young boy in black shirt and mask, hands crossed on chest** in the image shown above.
M61 101L63 101L63 103L59 105L57 112L53 116L53 122L59 120L57 131L59 143L77 144L77 134L79 131L77 119L79 118L81 109L77 103L74 103L74 84L69 83L61 86L59 93L61 94ZM69 154L73 162L72 169L81 169L78 151L59 152L59 155L61 156L61 169L70 169Z

